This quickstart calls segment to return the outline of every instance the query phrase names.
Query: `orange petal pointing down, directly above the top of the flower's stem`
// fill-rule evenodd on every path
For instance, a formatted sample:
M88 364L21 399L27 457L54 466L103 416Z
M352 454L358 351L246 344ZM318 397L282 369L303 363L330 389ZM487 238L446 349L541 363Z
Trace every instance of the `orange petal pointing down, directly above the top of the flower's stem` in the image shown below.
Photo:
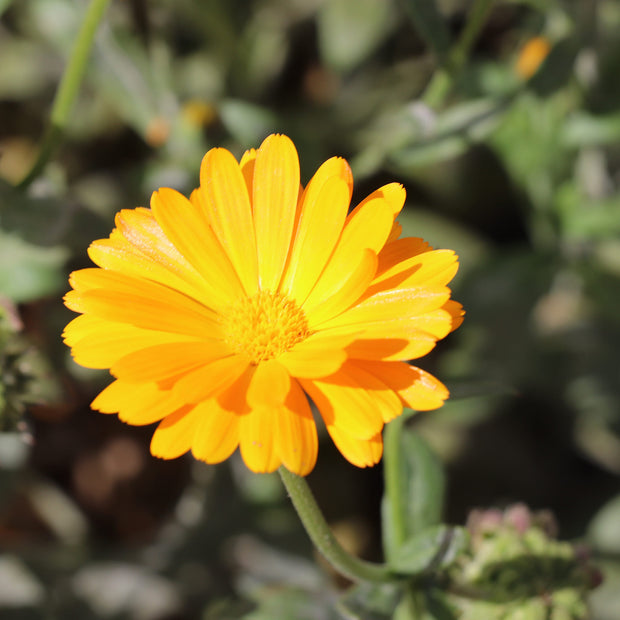
M308 399L297 381L277 412L275 447L282 464L298 476L309 474L316 463L318 437Z

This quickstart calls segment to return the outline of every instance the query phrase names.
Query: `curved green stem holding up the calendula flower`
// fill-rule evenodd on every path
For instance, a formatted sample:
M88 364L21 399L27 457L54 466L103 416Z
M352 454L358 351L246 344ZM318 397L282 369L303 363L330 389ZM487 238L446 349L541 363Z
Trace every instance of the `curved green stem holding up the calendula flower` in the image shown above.
M360 560L342 548L329 529L305 478L285 467L278 471L308 536L339 573L353 581L387 582L394 579L387 565Z

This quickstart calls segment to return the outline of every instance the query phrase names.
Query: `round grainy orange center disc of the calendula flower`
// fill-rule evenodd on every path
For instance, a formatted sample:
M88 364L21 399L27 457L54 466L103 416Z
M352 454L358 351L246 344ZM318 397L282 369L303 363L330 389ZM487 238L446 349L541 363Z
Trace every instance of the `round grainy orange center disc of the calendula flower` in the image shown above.
M224 333L236 353L245 353L258 364L290 351L310 330L294 301L280 293L259 291L233 304L224 319Z

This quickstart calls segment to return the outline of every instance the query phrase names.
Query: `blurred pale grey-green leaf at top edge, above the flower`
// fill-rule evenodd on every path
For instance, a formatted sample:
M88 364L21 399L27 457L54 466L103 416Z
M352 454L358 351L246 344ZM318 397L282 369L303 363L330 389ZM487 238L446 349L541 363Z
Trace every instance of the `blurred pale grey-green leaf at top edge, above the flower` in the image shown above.
M325 63L337 71L354 69L390 32L393 18L391 2L323 2L317 15L317 27Z

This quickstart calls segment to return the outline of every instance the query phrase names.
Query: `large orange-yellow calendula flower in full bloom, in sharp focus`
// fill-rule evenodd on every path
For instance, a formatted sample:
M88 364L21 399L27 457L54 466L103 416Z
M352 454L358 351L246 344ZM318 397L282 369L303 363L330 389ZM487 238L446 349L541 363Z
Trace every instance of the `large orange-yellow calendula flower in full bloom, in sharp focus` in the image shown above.
M255 472L306 475L314 402L332 440L365 467L403 405L439 407L446 388L406 360L455 329L452 251L399 239L392 183L348 213L352 175L326 161L305 188L297 151L269 136L240 162L210 150L189 200L160 189L95 241L98 268L71 274L64 337L115 381L92 407L159 422L151 452L207 463L237 447Z

